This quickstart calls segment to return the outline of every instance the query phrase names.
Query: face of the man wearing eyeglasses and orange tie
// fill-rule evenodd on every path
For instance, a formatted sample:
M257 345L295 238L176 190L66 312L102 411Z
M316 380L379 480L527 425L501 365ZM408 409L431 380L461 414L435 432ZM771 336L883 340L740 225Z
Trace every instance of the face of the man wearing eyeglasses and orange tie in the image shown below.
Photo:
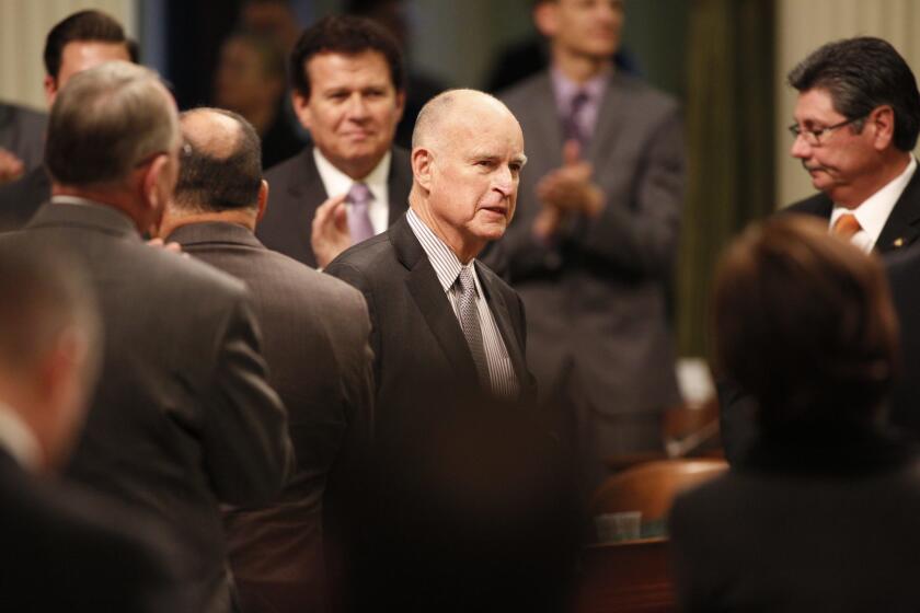
M798 94L794 117L803 130L819 130L847 120L833 108L830 93L824 89ZM849 189L859 189L861 183L871 182L878 173L869 127L856 134L851 125L842 126L823 134L819 144L809 144L800 136L790 153L802 161L816 189L841 204Z

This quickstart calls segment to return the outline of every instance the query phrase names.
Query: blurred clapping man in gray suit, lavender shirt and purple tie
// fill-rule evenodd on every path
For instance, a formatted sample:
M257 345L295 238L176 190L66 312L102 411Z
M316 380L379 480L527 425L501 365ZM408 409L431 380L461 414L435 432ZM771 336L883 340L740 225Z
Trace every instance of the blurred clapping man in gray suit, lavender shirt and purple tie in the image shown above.
M587 485L617 453L662 449L679 403L667 291L683 144L675 101L617 72L621 0L542 0L552 66L501 95L527 139L520 210L496 245L527 305L543 400L564 409Z

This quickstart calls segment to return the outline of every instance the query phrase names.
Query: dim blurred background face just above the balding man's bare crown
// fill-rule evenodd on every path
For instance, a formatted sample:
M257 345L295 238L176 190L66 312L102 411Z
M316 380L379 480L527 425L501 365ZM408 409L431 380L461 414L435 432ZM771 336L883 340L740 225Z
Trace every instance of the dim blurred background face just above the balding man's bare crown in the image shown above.
M223 45L215 77L217 106L246 116L251 109L273 106L284 88L281 79L265 73L258 51L244 41L231 39Z

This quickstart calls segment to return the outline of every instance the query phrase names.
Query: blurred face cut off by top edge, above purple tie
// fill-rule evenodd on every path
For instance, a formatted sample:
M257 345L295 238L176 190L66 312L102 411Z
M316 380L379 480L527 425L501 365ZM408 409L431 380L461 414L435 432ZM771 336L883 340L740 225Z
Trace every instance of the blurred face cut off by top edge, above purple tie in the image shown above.
M543 2L537 25L553 46L573 55L607 59L620 46L622 0L555 0Z

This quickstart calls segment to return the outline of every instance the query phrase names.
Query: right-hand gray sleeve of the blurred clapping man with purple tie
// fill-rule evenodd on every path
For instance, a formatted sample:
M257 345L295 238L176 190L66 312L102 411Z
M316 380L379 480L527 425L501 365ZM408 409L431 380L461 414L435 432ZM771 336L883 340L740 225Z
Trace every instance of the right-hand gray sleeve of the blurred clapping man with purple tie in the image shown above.
M583 218L568 240L619 269L668 276L678 248L685 166L675 105L651 131L631 189L611 193L605 177L597 177L605 189L605 208L596 219Z

